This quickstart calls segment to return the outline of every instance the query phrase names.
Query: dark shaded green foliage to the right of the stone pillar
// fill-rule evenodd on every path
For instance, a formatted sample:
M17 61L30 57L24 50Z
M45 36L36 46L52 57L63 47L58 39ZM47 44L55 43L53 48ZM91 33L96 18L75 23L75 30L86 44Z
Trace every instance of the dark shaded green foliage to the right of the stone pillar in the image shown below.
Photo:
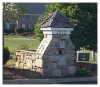
M76 49L97 51L97 4L79 4L78 23L71 34Z

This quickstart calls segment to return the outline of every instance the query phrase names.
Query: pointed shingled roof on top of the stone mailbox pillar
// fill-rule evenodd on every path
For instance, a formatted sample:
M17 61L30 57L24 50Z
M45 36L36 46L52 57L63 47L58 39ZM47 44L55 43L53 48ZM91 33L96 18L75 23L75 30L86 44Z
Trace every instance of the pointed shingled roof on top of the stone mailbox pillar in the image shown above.
M73 25L69 23L65 15L56 10L41 24L41 27L73 28Z

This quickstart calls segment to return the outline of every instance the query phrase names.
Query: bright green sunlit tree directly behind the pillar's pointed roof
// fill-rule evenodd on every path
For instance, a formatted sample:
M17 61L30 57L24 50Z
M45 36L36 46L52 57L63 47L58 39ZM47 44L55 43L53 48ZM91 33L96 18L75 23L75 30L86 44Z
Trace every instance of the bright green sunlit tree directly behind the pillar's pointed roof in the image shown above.
M74 10L71 11L72 9L74 9ZM52 14L56 10L60 10L65 15L67 14L68 17L69 17L69 15L73 17L73 14L76 11L76 8L72 8L71 5L68 3L66 3L66 4L52 3L50 5L47 5L45 14L42 17L40 17L38 19L38 21L36 22L36 24L34 25L36 37L39 38L40 40L43 39L43 32L40 30L40 24L42 23L42 21L44 21L50 14ZM70 21L77 22L77 20L75 20L73 18ZM76 24L76 23L74 23L74 24Z

